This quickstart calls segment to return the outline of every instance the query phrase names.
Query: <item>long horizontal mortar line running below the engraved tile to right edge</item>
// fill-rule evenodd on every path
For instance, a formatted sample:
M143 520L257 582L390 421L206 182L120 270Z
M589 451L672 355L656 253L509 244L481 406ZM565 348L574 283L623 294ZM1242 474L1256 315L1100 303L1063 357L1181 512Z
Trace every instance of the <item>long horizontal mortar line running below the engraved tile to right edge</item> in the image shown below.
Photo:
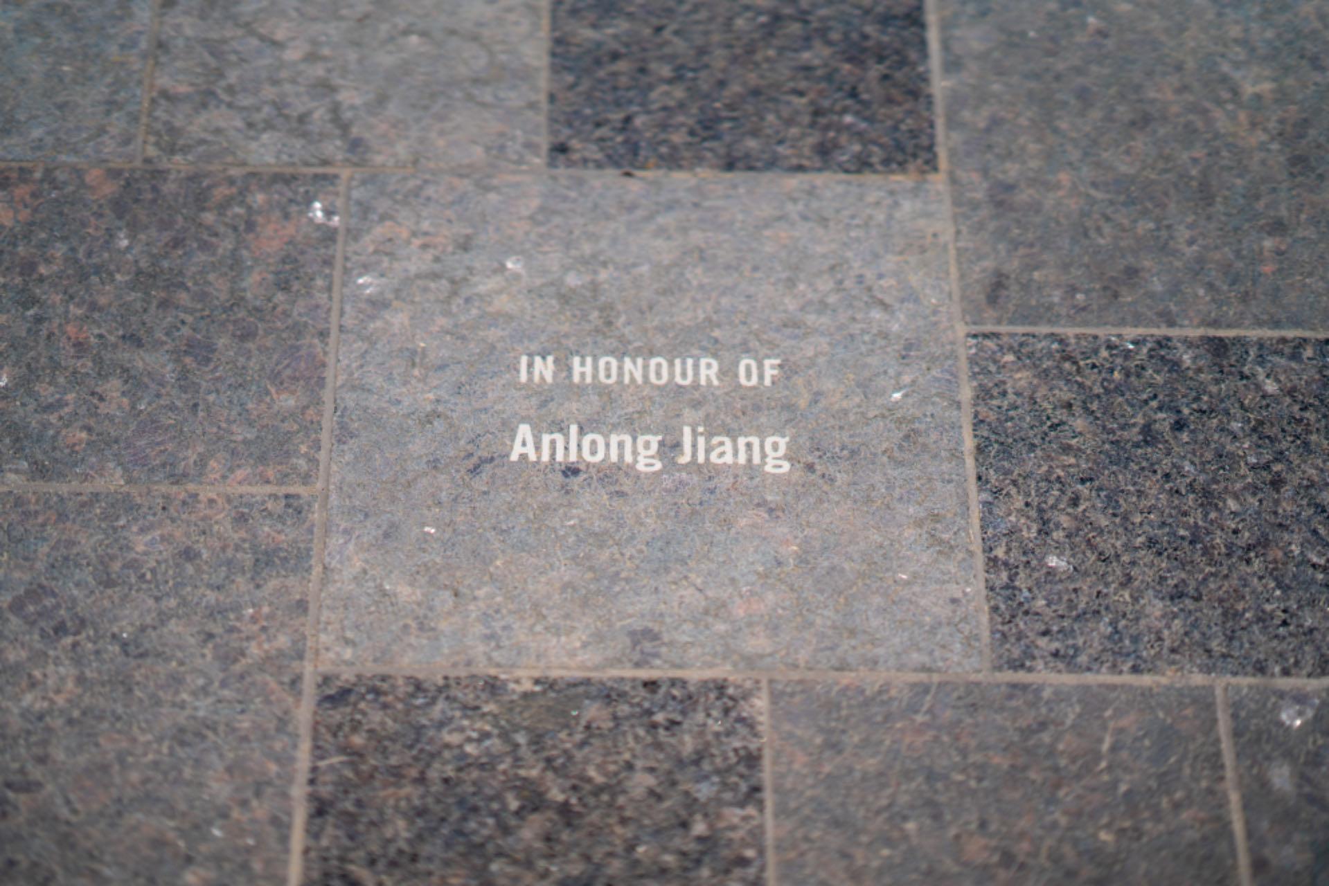
M1183 688L1225 685L1260 685L1280 689L1329 689L1329 677L1233 677L1208 673L1033 673L978 671L781 671L751 668L567 668L567 667L453 667L437 664L320 664L328 676L413 676L445 677L513 677L513 679L582 679L582 680L788 680L880 683L985 683L1031 685L1127 685L1142 688Z

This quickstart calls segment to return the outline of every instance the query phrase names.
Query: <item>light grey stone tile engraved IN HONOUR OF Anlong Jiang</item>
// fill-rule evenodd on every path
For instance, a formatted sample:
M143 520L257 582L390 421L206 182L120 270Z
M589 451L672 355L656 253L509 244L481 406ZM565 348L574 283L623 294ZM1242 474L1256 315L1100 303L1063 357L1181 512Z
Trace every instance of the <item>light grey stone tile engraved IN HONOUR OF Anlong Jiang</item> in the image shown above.
M940 189L799 177L358 179L330 663L975 668ZM518 381L554 355L554 384ZM567 355L720 387L573 385ZM739 357L779 357L769 387ZM664 434L664 466L510 461ZM678 465L684 425L792 469Z

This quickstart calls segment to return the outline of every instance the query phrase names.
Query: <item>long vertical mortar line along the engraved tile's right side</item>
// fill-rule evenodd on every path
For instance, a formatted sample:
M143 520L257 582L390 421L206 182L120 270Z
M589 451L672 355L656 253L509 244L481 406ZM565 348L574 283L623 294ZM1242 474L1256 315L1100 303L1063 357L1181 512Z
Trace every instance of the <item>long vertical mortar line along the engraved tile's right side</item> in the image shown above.
M946 205L946 256L950 271L950 321L956 336L956 375L960 384L960 434L965 454L965 495L969 499L969 545L974 562L974 600L978 607L979 656L985 672L993 669L991 620L987 607L987 569L983 563L982 519L978 510L978 457L974 444L974 391L969 381L969 348L965 311L960 299L960 256L956 248L956 209L950 198L950 155L946 149L946 105L942 96L941 23L937 0L925 0L928 70L932 81L932 117L937 142L937 171Z

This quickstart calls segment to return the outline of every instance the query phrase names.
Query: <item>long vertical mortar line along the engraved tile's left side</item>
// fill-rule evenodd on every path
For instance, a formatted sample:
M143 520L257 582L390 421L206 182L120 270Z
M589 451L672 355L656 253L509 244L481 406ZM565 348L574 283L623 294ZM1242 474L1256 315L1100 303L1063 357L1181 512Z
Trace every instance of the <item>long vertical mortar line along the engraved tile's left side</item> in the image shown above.
M351 174L343 173L338 186L336 252L332 266L332 308L328 329L328 364L323 380L323 430L319 442L319 498L314 519L314 569L310 574L308 620L304 626L304 671L300 677L300 709L296 717L299 745L295 754L295 784L291 785L291 840L287 883L299 886L304 875L304 829L308 824L310 764L314 756L314 696L318 688L319 616L323 603L323 555L328 534L328 474L332 465L332 417L336 402L336 363L342 345L342 278L346 266L346 238L351 226Z

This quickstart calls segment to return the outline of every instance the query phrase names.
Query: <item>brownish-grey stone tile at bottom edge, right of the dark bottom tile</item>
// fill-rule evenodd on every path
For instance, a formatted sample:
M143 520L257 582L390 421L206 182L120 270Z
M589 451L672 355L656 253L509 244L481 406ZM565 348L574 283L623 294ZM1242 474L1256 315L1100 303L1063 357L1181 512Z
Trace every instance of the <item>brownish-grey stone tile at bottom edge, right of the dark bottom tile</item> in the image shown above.
M1208 688L775 683L780 881L1235 883Z

